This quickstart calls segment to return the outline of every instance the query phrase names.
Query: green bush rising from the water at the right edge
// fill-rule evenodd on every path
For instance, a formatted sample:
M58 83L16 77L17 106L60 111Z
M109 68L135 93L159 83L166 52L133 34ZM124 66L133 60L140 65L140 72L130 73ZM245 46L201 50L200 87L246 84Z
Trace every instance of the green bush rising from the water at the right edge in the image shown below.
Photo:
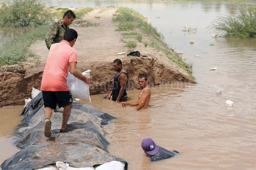
M232 38L256 38L256 8L241 4L239 12L234 15L221 16L207 28L218 34Z

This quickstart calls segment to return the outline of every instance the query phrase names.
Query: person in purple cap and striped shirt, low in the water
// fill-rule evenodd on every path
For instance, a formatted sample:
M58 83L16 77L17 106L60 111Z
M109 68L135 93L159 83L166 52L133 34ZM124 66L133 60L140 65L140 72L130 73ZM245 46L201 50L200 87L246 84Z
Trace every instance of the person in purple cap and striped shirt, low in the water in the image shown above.
M179 153L178 151L169 151L161 146L157 146L151 138L145 138L141 142L143 151L150 155L150 161L159 161L165 158L171 158Z

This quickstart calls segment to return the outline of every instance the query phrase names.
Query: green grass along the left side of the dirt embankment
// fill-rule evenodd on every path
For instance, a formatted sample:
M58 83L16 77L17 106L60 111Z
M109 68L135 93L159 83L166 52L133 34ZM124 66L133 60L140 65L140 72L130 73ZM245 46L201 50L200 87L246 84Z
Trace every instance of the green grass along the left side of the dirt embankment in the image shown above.
M28 58L30 58L30 62L40 64L38 56L36 56L35 52L29 50L29 46L36 40L44 39L44 36L49 29L49 24L53 22L52 18L62 18L64 12L69 10L68 8L57 7L47 7L47 9L48 11L51 11L51 15L47 15L49 21L45 22L47 24L41 25L37 27L36 30L22 35L18 40L13 40L0 46L0 66L21 64L22 62L27 61ZM75 12L76 16L78 16L76 18L83 17L85 14L91 12L92 10L93 9L89 7L81 8L77 12ZM99 24L87 22L86 24L80 24L79 26L90 27L99 26Z

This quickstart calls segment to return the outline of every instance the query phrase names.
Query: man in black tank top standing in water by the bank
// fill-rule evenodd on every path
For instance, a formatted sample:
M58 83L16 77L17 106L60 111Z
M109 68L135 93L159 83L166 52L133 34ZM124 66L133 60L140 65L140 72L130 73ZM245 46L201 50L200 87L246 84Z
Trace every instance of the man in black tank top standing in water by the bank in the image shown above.
M128 82L128 74L122 67L122 62L119 59L113 61L113 69L116 71L112 92L107 97L107 100L118 102L127 101L126 85Z

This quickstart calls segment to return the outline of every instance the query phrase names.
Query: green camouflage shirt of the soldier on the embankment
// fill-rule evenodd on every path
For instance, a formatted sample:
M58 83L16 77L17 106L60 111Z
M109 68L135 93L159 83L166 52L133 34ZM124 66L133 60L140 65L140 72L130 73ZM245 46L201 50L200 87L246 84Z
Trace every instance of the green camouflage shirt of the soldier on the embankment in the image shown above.
M63 40L64 32L68 28L69 27L67 25L63 25L61 19L59 21L55 21L52 25L50 25L50 28L44 37L47 48L50 49L52 44L61 42Z

